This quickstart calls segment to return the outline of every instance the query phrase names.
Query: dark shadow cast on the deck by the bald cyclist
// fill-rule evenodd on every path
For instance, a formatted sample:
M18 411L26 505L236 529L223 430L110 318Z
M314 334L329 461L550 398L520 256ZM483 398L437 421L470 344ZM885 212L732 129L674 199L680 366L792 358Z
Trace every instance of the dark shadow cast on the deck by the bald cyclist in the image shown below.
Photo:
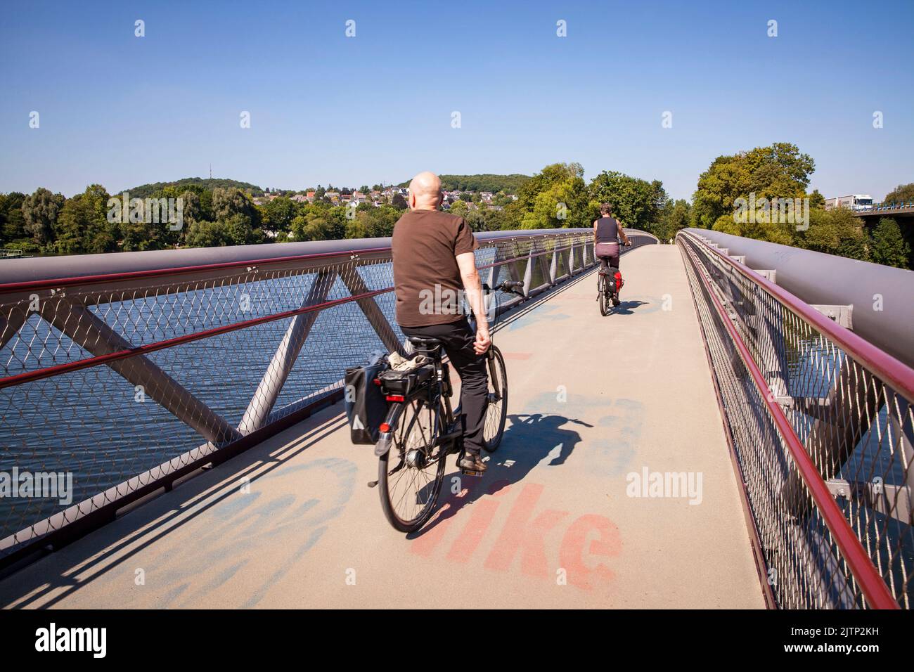
M441 522L459 514L463 507L472 504L484 495L492 495L507 485L514 485L526 478L537 464L560 466L581 441L580 434L571 429L574 424L583 427L593 425L552 413L521 413L508 415L511 426L505 428L502 443L494 453L488 454L488 469L482 478L461 475L454 467L453 456L448 457L447 471L441 486L439 510L429 523L416 532L407 535L417 539ZM544 463L550 453L556 453ZM451 491L452 478L461 479L461 492Z

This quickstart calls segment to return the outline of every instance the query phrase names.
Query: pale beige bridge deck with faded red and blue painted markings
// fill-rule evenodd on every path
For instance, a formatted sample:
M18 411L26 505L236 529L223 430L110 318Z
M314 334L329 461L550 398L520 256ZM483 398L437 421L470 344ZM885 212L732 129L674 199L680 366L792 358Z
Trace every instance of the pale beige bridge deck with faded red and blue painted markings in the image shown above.
M508 316L504 443L420 534L388 526L337 404L7 578L0 604L763 606L679 251L622 267L616 315L591 272ZM700 475L700 502L628 496L645 468Z

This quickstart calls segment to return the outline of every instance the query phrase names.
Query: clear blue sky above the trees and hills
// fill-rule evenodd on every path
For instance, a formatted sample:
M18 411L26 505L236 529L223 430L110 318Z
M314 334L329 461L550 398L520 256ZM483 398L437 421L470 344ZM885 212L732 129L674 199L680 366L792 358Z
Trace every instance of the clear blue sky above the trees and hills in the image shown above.
M914 181L911 0L37 2L2 21L3 192L210 164L304 188L578 161L690 197L717 155L778 141L813 156L826 197Z

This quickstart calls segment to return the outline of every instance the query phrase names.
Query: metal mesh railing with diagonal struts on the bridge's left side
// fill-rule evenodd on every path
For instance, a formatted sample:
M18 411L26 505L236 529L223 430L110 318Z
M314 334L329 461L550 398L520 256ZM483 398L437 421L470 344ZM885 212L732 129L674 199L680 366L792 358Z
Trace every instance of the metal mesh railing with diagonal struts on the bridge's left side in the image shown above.
M526 296L593 264L587 229L477 240L484 282ZM346 367L399 349L389 239L367 243L181 268L60 258L84 272L0 284L0 562L339 399ZM143 270L91 266L124 259Z

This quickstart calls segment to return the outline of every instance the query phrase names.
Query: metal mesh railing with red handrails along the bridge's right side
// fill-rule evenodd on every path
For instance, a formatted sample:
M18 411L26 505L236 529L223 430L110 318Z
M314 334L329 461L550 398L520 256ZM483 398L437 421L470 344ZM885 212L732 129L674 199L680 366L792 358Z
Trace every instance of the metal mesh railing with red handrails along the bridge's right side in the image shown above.
M914 371L681 232L708 357L784 608L909 608Z

